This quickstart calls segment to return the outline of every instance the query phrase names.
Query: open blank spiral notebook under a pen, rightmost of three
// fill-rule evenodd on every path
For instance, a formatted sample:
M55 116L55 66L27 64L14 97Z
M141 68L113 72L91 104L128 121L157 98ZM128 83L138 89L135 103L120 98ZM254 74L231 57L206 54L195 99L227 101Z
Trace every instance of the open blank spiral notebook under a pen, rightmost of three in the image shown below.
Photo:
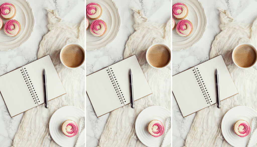
M222 55L219 55L172 76L172 92L183 117L216 103L216 68L220 100L238 94Z

